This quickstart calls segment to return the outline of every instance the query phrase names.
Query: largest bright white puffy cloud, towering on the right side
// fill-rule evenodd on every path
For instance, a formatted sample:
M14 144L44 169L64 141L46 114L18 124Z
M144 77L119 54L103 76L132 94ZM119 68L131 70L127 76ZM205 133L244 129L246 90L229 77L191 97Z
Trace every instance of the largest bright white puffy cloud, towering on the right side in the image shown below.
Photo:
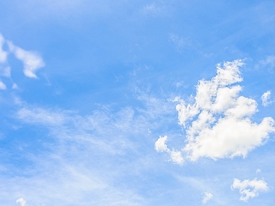
M182 148L186 159L245 157L274 132L272 117L263 118L259 124L251 120L257 103L240 95L242 87L236 84L243 80L239 70L243 65L242 60L218 64L217 76L199 80L189 103L175 100L179 124L186 132Z

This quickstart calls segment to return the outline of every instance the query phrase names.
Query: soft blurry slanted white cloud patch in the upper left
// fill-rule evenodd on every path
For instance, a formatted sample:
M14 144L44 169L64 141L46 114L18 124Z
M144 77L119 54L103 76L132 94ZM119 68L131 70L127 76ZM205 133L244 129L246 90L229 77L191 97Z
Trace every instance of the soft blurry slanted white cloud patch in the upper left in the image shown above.
M28 78L37 78L35 74L36 70L45 67L45 63L41 56L34 52L25 51L24 49L13 45L10 41L8 41L8 47L10 48L10 52L13 52L14 55L23 62L23 73L25 76Z

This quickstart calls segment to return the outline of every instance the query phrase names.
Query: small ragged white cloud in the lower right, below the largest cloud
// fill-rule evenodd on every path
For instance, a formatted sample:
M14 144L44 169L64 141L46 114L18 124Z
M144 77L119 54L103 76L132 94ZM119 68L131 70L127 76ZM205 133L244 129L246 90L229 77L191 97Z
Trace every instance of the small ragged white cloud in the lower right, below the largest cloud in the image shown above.
M239 189L241 194L240 201L247 202L249 198L259 196L259 192L266 192L269 188L263 180L253 179L250 181L245 179L244 181L240 181L239 179L234 179L231 190L234 189Z

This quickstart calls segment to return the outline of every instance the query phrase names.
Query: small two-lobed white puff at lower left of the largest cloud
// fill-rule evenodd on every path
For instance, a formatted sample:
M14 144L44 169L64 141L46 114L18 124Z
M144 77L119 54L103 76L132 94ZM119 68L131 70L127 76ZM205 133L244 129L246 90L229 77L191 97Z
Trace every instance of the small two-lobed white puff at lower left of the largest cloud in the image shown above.
M157 141L155 142L155 150L157 152L168 153L168 155L170 156L170 161L181 165L182 163L184 163L184 158L182 157L181 152L168 149L166 145L167 138L168 137L166 135L164 137L159 137L159 139L157 139Z

